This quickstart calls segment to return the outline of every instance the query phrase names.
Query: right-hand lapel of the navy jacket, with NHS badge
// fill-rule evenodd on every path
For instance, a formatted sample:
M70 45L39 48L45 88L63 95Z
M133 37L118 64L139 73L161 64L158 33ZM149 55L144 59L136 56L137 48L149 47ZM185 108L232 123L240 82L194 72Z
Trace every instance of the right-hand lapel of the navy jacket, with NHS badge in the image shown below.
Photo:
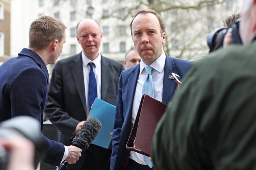
M164 68L164 81L163 81L163 95L162 102L168 104L174 94L176 87L176 81L174 79L169 79L169 75L173 72L174 61L173 59L166 55L165 68Z

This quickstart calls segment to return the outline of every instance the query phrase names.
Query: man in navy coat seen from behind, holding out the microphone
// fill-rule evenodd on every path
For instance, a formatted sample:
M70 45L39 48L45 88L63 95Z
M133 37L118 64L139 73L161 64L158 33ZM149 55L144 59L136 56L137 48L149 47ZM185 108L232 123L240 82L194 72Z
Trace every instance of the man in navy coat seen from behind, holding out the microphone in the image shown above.
M36 118L43 129L43 111L48 97L49 74L46 65L60 56L66 42L66 26L56 18L41 16L32 22L29 47L0 67L0 122L18 115ZM43 135L42 135L43 136ZM82 150L49 140L45 162L59 166L65 159L76 163Z

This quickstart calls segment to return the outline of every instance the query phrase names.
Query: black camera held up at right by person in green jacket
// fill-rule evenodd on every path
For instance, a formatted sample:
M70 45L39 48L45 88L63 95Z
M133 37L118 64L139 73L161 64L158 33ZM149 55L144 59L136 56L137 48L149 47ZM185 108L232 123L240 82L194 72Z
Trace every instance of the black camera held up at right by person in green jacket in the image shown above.
M209 46L210 51L215 51L223 46L223 41L226 33L231 32L232 42L231 44L242 44L242 40L239 34L239 24L240 18L237 19L234 23L230 24L229 27L224 28L215 28L207 37L207 45Z

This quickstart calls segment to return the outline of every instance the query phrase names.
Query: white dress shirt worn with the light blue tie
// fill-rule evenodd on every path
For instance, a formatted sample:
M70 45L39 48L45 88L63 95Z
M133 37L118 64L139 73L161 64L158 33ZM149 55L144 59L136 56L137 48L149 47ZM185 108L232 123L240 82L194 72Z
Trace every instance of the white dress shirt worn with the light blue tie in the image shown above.
M164 81L164 66L165 66L165 53L162 52L161 56L156 59L150 66L152 69L152 79L153 79L153 88L154 88L154 98L162 102L162 87ZM142 88L143 83L146 80L146 70L144 69L147 65L141 60L140 61L140 73L137 80L134 100L133 100L133 109L132 109L132 124L135 122L137 112L139 109L140 100L142 98ZM135 160L137 163L142 165L147 165L143 160L143 155L134 151L130 151L130 158Z

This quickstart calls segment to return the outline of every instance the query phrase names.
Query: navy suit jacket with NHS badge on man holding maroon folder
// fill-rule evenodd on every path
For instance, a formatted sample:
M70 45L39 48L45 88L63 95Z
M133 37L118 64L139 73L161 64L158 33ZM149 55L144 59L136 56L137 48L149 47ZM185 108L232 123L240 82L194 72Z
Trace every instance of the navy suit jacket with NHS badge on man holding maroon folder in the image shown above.
M191 64L192 61L170 57L166 54L162 93L163 103L168 104L177 88L175 79L168 79L169 75L173 72L182 78L187 70L190 69ZM132 130L133 98L139 72L140 64L137 64L124 70L119 78L116 117L112 138L111 170L122 170L129 156L126 143Z

